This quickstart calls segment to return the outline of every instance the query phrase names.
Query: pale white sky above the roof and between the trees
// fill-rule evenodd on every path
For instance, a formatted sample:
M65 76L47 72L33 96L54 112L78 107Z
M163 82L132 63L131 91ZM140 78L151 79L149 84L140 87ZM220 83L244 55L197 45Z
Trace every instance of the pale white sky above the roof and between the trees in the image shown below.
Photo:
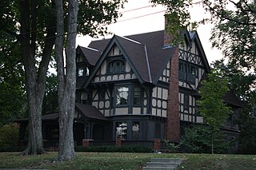
M199 0L194 0L194 2L199 2ZM165 8L161 5L153 6L150 0L128 0L124 9L119 11L122 13L122 17L118 18L116 23L107 26L112 34L126 36L164 30ZM190 15L192 22L209 17L209 14L206 14L205 11L202 10L202 5L200 4L190 8ZM211 24L200 25L197 28L209 64L212 61L222 58L220 50L211 48L209 38L212 28L213 25ZM111 38L112 36L113 35L107 35L105 38ZM77 45L87 46L92 40L93 38L89 36L78 36Z

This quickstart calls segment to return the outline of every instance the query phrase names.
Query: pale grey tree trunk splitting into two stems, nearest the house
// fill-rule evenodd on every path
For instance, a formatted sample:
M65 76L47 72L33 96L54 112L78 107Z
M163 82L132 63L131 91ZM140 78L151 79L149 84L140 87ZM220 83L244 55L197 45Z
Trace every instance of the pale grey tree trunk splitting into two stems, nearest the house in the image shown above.
M58 69L58 105L59 105L59 150L58 160L70 160L74 156L74 102L76 86L75 38L77 32L78 1L69 1L68 28L66 38L66 74L64 71L63 5L56 0L57 38L56 61Z

